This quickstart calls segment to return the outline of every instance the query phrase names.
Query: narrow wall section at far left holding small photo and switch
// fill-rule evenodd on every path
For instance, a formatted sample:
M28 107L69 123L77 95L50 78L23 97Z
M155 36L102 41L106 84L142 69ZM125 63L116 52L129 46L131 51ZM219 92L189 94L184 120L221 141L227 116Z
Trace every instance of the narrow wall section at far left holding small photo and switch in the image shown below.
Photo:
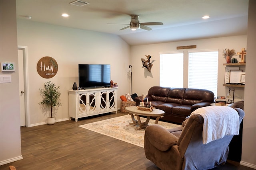
M0 1L0 62L18 63L16 2ZM16 65L16 69L18 66ZM0 84L0 164L22 159L20 141L20 101L18 71L10 75L11 83Z

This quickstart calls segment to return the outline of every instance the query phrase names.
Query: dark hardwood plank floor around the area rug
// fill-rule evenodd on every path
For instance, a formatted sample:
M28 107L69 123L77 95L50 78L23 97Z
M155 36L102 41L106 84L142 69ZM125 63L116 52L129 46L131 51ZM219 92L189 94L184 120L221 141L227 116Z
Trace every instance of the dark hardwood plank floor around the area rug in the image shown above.
M144 149L83 129L78 125L125 115L118 112L54 125L21 127L22 160L0 166L9 170L159 170ZM253 170L226 163L213 170Z

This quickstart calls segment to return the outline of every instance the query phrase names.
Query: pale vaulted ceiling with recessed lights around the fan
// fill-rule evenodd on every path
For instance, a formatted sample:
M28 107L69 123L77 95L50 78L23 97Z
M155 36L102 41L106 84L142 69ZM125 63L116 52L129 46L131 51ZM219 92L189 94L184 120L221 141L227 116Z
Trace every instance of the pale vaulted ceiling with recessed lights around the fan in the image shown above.
M36 22L110 33L130 45L185 41L212 37L246 35L248 0L83 0L84 6L71 5L74 0L17 0L17 18ZM64 18L61 14L70 16ZM122 29L130 15L139 15L140 23L152 30ZM202 19L208 15L209 19ZM31 16L31 19L24 16Z

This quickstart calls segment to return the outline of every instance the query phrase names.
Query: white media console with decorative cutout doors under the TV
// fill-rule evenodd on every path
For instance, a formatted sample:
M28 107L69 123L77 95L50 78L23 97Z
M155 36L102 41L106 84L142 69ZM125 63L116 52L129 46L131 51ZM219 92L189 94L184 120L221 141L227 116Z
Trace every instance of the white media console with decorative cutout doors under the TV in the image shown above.
M69 117L78 118L116 111L117 87L68 90Z

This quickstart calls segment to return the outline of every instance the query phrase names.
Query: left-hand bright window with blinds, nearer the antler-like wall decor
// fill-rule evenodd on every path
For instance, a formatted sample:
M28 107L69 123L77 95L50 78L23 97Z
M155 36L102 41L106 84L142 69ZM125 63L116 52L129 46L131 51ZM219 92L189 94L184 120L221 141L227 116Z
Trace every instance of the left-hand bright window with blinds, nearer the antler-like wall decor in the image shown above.
M183 87L183 53L160 54L160 86Z

